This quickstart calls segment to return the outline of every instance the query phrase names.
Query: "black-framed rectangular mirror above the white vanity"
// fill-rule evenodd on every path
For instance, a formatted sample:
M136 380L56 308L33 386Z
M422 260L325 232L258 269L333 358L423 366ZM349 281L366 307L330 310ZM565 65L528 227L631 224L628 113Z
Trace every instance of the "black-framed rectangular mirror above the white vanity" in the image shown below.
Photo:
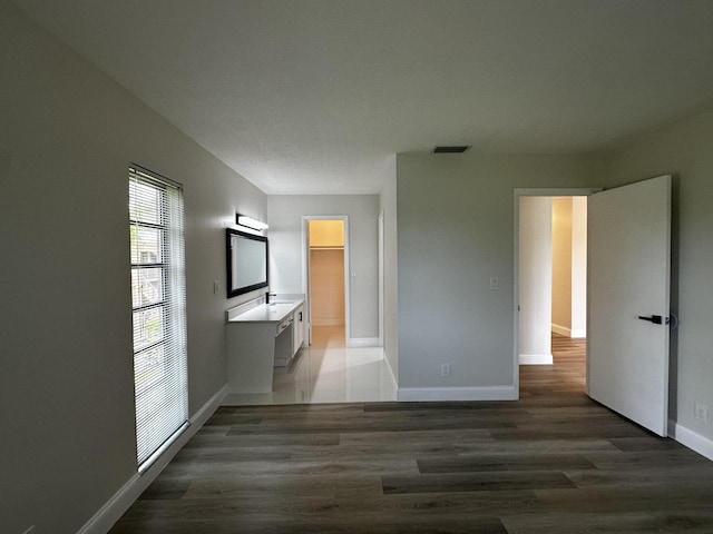
M267 238L226 228L227 296L267 287Z

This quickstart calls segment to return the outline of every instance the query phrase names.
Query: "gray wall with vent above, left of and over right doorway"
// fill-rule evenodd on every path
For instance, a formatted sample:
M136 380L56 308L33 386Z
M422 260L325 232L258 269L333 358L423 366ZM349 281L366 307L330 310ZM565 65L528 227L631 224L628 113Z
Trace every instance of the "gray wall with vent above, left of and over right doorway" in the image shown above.
M399 398L517 396L514 189L589 186L583 161L398 155Z

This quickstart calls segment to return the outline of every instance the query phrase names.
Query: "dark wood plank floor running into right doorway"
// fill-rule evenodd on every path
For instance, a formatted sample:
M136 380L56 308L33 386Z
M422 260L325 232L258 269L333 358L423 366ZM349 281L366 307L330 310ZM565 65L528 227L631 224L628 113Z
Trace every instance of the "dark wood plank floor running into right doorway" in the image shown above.
M111 533L713 533L713 463L554 352L518 402L221 408Z

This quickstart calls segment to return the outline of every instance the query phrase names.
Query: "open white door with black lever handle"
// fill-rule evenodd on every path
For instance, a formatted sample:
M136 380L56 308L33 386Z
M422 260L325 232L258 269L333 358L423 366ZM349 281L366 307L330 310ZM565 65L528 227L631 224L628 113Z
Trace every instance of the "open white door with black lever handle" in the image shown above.
M589 197L588 395L665 436L671 176Z

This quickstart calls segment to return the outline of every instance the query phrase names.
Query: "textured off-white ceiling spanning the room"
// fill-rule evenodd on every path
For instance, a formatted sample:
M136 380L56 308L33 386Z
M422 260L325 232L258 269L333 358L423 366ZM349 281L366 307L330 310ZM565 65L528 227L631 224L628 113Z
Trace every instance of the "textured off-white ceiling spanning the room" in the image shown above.
M578 152L711 105L711 0L16 0L267 194ZM458 156L445 156L458 157Z

